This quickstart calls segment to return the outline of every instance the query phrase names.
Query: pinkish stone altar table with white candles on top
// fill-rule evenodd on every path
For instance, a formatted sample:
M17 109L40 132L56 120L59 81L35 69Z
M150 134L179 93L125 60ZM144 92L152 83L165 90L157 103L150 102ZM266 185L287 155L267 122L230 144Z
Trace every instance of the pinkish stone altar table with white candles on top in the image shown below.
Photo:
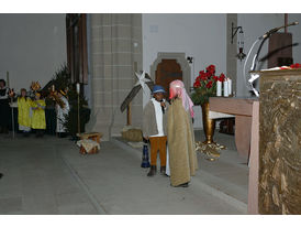
M221 117L235 117L235 144L248 166L248 214L258 214L259 170L259 100L258 98L212 97L210 111L222 112Z

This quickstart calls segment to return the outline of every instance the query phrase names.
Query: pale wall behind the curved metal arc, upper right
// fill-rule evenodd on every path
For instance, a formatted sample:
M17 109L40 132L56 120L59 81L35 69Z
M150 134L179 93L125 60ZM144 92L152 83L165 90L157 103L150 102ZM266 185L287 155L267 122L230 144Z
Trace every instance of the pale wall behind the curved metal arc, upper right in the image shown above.
M299 21L301 22L301 14L289 14L289 22ZM237 14L237 25L243 26L244 39L245 39L245 54L247 54L252 44L260 35L264 35L267 31L281 26L285 24L285 13L238 13ZM279 32L283 32L280 30ZM301 44L301 29L300 25L291 26L288 29L288 32L292 33L293 42L299 42ZM250 54L250 58L247 61L246 72L249 71L252 60L254 54L257 52L259 42L254 47L254 51ZM259 58L265 56L268 52L268 41L265 42ZM301 62L300 46L293 47L293 61ZM245 79L243 75L243 65L245 60L242 62L237 60L237 96L249 96L248 89L245 86ZM260 67L259 67L260 66ZM267 68L267 61L263 65L257 65L257 69Z

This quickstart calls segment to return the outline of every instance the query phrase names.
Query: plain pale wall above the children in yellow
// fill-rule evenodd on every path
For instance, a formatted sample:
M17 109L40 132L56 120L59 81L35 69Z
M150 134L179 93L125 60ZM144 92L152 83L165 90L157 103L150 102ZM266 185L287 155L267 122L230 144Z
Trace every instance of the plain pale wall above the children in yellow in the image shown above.
M0 78L16 91L42 87L67 62L65 14L0 14Z

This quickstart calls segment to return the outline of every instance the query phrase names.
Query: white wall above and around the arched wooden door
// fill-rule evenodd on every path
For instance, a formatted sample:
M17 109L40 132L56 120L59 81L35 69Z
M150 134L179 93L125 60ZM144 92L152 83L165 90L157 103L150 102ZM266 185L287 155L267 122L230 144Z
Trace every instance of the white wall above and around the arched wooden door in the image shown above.
M194 58L191 85L199 71L214 64L216 73L226 72L226 14L143 14L143 69L150 65L158 52L181 52ZM144 96L143 105L148 101ZM201 128L201 109L196 107L194 128Z

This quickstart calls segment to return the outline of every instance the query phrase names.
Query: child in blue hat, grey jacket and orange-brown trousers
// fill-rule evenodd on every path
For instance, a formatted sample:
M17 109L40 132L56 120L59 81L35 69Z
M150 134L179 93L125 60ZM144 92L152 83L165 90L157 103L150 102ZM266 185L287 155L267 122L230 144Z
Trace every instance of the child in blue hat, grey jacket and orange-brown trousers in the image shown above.
M167 105L164 99L165 89L155 85L153 98L143 109L143 137L150 142L150 170L147 176L153 176L157 171L157 152L160 154L160 173L166 172L166 111Z

